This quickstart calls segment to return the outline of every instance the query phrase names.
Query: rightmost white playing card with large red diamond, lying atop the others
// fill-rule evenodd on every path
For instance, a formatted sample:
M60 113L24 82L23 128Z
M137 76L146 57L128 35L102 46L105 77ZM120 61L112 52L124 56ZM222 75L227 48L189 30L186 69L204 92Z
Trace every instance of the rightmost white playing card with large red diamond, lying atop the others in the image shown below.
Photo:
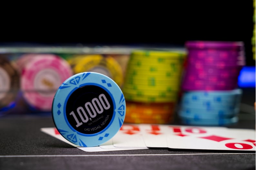
M255 130L218 127L174 127L168 134L171 149L255 151ZM180 131L180 132L177 132Z

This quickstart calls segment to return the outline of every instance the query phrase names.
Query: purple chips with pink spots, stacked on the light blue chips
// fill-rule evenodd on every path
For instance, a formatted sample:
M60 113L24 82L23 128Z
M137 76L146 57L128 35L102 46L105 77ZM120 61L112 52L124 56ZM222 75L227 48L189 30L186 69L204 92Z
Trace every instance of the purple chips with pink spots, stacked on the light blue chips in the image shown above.
M188 41L184 91L233 90L245 65L243 42Z

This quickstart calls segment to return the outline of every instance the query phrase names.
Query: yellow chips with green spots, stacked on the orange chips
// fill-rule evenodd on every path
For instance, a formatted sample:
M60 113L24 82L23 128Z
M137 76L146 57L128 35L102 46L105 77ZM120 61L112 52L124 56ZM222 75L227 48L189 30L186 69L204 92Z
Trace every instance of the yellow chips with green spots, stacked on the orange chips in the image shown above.
M133 50L127 63L122 91L128 101L177 101L183 64L183 51Z

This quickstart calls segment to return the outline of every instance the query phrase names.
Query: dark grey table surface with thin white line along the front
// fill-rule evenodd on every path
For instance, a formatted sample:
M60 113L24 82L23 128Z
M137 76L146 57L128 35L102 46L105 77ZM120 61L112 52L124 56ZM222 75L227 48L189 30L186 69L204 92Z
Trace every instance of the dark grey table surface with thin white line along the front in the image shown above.
M230 128L255 129L255 89L244 89L239 122ZM178 125L176 120L173 124ZM54 127L51 115L0 117L0 169L244 169L255 170L255 152L147 149L85 152L40 131Z

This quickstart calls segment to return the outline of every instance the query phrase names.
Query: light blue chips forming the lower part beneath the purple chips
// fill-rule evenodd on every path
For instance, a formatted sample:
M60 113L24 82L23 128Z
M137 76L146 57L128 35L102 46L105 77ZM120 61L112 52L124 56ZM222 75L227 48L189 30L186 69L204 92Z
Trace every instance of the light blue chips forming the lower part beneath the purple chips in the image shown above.
M238 122L242 90L187 91L178 115L186 125L232 125Z

